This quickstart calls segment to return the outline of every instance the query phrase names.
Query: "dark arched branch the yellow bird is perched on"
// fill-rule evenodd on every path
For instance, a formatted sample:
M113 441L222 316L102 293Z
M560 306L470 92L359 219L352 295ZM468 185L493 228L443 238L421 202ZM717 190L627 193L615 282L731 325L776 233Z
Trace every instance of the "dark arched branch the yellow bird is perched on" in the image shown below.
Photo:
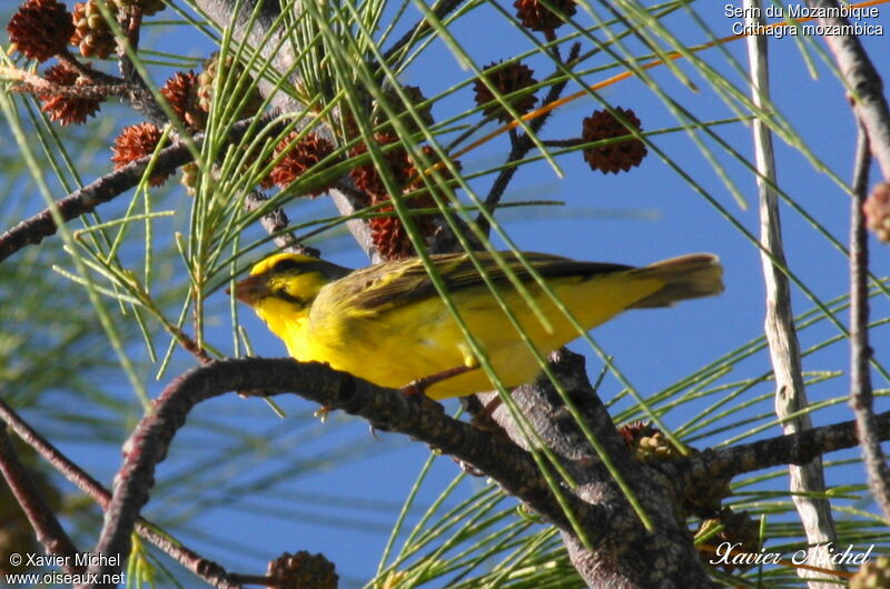
M130 531L148 501L155 469L195 405L227 391L247 389L298 391L300 397L330 409L364 417L376 429L412 436L471 463L561 529L572 529L564 508L526 451L449 418L442 405L424 396L406 397L376 387L317 362L240 358L216 361L176 378L155 401L155 410L140 420L125 445L123 465L116 477L97 553L129 552ZM572 495L566 500L593 541L609 529L601 506L585 503ZM89 572L113 575L117 567L103 562Z

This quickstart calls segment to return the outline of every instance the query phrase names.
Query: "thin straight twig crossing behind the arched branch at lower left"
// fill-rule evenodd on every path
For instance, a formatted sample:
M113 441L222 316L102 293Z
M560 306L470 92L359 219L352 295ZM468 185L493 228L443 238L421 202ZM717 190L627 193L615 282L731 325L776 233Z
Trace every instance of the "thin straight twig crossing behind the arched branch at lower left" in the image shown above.
M0 399L0 420L4 421L12 431L28 446L33 448L43 459L52 465L69 482L83 491L99 507L106 509L111 500L111 492L103 488L99 481L73 463L68 457L52 446L46 438L31 428L9 405ZM197 552L179 545L169 536L155 531L158 527L150 521L139 518L136 525L137 533L155 545L167 556L182 565L207 583L221 589L235 589L237 582L229 580L226 569L208 560Z

